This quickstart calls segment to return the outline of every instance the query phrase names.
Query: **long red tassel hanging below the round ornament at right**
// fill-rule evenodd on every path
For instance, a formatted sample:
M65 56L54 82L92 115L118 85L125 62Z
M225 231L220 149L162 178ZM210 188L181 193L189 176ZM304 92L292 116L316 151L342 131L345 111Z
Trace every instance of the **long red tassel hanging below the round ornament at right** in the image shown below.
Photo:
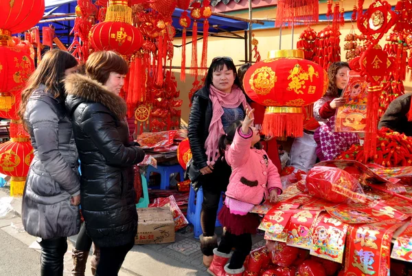
M365 162L368 158L375 156L376 153L376 133L378 131L378 110L379 110L379 96L382 92L380 85L369 87L367 94L367 124L365 127L365 144L363 149L365 151Z

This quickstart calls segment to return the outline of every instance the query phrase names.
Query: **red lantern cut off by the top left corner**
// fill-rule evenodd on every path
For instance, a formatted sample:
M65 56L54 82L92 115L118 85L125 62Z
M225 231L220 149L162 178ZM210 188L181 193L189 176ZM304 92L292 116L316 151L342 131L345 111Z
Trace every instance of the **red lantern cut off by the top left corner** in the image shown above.
M36 25L45 12L45 1L0 1L0 10L0 40L3 40L3 35L10 36Z

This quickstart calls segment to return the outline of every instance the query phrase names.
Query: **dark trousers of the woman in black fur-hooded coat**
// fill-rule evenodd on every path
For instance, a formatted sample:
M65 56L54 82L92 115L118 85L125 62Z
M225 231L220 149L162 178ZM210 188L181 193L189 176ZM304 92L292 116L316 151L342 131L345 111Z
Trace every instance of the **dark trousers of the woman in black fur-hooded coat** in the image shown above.
M135 242L124 246L100 247L100 262L95 276L117 276L124 258Z

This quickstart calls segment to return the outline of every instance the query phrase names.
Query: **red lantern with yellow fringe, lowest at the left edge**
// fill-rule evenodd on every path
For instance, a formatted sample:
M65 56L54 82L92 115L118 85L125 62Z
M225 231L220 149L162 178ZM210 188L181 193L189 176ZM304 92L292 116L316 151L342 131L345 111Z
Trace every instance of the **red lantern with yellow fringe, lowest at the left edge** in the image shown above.
M10 195L23 195L32 159L33 147L28 137L12 138L0 145L0 173L12 177Z

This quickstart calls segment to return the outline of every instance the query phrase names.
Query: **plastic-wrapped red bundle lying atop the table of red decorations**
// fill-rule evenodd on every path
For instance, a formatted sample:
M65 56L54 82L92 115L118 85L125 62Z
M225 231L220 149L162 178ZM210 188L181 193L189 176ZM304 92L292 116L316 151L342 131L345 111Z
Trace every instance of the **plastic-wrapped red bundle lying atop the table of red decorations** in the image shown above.
M308 193L330 202L341 203L356 197L355 191L363 193L358 180L343 169L332 167L314 167L306 177Z

